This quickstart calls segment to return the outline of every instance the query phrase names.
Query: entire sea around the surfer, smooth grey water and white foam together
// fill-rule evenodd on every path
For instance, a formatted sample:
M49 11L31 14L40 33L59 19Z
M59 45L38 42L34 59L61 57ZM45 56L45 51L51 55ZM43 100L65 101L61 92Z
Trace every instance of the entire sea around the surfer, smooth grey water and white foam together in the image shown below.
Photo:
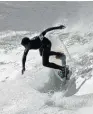
M0 2L1 114L93 113L92 4ZM29 52L26 72L21 75L22 38L32 38L39 30L63 23L66 29L52 31L47 37L52 50L66 54L73 69L71 80L62 85L53 69L42 66L38 50Z

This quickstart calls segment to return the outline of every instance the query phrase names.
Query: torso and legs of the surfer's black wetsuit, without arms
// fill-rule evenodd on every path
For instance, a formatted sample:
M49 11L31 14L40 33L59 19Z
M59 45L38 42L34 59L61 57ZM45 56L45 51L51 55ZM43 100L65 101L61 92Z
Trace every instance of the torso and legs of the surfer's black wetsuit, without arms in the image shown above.
M44 66L60 70L62 69L62 66L49 62L49 56L59 55L60 53L51 51L52 44L48 38L43 37L43 40L41 41L40 38L37 36L31 39L30 44L30 49L39 49L40 55L42 56L42 64Z

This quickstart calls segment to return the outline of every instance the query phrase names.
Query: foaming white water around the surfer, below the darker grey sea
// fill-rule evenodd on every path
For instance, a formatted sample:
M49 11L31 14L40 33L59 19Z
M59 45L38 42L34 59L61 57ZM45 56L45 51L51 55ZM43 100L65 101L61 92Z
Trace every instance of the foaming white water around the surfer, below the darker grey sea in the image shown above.
M10 7L13 4L7 5ZM27 4L23 6L29 7ZM81 15L80 12L78 14ZM59 23L61 18L56 20L53 25ZM38 50L29 52L26 72L21 75L24 50L20 45L21 39L38 32L33 35L26 30L0 32L0 114L88 114L89 111L93 113L93 31L91 27L85 27L85 22L92 26L88 19L79 20L65 30L53 31L47 35L53 42L52 49L61 49L63 46L58 38L63 39L74 61L73 67L76 71L65 86L62 86L52 69L42 66ZM71 65L69 59L68 64Z

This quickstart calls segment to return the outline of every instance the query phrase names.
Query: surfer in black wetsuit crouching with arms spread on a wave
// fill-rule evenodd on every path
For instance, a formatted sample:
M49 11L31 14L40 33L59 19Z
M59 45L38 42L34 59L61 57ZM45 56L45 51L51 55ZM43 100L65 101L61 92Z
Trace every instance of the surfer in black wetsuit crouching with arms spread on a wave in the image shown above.
M64 66L57 65L55 63L49 62L49 56L55 55L56 57L59 56L65 56L63 53L60 52L54 52L51 51L52 43L51 41L45 37L46 33L52 30L56 29L64 29L64 25L56 26L56 27L50 27L46 30L44 30L39 36L35 36L32 39L29 39L28 37L24 37L21 41L21 44L25 47L24 54L22 57L22 74L25 71L25 62L26 57L31 49L39 49L40 56L42 56L42 64L45 67L59 69L61 71L64 71Z

